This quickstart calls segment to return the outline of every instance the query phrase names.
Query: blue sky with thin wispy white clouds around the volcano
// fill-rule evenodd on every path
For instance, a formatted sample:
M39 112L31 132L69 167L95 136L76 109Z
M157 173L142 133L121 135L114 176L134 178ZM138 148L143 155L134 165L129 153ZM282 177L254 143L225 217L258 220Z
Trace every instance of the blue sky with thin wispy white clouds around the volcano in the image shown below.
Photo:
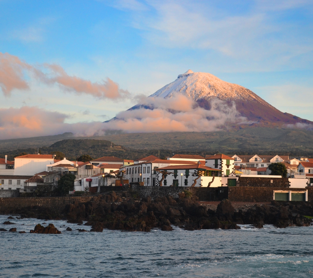
M312 3L0 0L0 52L92 82L108 77L134 96L188 69L209 72L313 121ZM36 106L76 123L136 104L28 82L27 90L0 95L0 108Z

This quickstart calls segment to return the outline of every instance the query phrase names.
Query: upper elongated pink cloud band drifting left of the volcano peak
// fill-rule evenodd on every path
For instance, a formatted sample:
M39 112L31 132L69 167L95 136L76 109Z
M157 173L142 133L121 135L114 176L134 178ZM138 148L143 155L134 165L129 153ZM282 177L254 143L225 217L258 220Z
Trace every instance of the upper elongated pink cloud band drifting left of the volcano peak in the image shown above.
M47 85L57 84L64 91L90 94L98 98L131 97L128 91L120 89L110 78L102 82L91 82L77 76L69 76L59 65L32 66L17 56L0 53L0 87L5 96L10 96L13 89L28 89L26 77L35 78Z

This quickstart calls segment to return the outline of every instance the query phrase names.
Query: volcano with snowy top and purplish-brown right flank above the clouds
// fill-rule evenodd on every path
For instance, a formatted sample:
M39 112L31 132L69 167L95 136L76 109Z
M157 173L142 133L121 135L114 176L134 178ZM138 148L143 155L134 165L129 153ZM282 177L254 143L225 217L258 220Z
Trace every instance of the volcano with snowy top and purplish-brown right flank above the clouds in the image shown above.
M237 111L250 122L259 124L296 124L313 122L299 118L289 113L283 113L251 90L237 84L228 83L218 77L204 72L186 71L178 75L177 79L156 91L149 97L171 98L176 94L183 94L209 110L211 101L215 98L229 104L235 103ZM129 110L137 109L137 104ZM151 107L145 107L150 108Z

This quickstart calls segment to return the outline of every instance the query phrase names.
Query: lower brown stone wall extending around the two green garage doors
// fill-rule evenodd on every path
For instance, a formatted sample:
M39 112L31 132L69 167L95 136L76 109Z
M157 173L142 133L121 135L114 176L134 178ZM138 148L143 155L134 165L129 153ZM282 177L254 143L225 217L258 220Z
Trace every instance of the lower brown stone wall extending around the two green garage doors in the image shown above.
M313 188L312 188L313 189ZM229 187L228 200L233 202L271 202L274 190L305 191L306 188L281 187ZM308 191L308 201L313 199L313 190Z

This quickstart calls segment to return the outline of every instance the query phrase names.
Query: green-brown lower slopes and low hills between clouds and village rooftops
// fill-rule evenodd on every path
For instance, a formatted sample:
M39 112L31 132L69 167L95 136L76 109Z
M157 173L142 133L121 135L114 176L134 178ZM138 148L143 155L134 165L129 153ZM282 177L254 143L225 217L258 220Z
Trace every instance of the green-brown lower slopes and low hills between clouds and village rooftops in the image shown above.
M111 148L111 142L113 147ZM11 159L22 151L34 153L62 151L75 158L89 154L94 158L115 155L136 159L145 155L171 156L181 154L281 154L313 156L313 131L253 127L218 132L129 133L101 137L73 137L66 133L26 139L0 140L0 157Z

